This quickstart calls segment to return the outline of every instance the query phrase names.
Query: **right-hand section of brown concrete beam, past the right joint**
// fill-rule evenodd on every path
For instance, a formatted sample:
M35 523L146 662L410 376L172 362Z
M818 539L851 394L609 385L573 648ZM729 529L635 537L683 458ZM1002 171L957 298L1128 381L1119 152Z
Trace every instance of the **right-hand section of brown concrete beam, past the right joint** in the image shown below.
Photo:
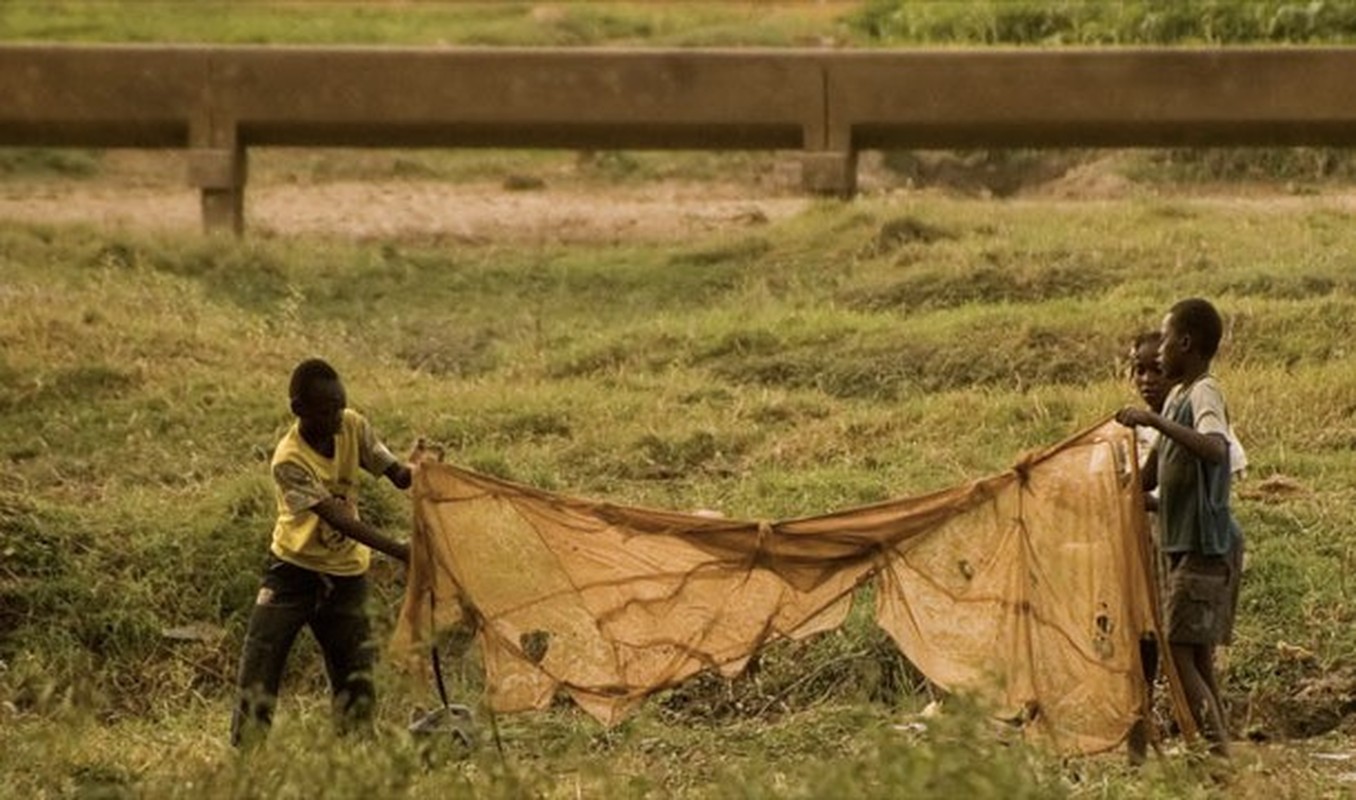
M830 60L830 148L1356 144L1356 50L982 50Z

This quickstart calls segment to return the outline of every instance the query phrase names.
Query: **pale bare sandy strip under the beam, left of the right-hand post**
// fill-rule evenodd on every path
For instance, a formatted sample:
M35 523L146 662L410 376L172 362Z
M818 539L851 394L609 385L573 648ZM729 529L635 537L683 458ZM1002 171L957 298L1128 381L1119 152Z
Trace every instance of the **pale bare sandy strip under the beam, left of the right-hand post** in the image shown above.
M735 187L655 184L509 191L498 184L428 182L250 186L245 226L277 235L354 239L439 236L462 241L681 240L800 212L805 197L755 197ZM107 228L201 226L188 187L61 182L0 187L0 218Z

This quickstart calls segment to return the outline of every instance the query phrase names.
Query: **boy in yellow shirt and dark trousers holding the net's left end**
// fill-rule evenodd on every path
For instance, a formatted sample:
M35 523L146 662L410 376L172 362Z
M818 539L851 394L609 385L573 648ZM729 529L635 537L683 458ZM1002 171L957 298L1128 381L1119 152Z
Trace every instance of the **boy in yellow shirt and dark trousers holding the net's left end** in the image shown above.
M410 466L347 407L343 382L319 358L297 365L289 386L296 424L278 442L271 473L278 518L263 586L240 656L231 742L267 734L287 654L304 625L325 659L340 731L370 724L374 643L366 614L372 551L410 561L410 546L358 519L358 471L410 488Z

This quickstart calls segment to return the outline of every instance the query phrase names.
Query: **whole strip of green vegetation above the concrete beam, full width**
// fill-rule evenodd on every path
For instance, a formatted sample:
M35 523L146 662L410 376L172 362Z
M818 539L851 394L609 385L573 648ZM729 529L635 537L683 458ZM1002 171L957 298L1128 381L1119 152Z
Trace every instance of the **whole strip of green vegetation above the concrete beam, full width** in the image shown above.
M865 3L342 3L191 7L164 0L9 0L0 38L527 46L1344 43L1356 9L1294 0L868 0Z

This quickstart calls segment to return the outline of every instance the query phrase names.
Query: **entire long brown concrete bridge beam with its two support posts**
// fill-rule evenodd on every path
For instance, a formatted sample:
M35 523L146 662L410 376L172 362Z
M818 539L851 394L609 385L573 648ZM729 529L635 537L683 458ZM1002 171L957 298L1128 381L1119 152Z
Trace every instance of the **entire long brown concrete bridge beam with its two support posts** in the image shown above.
M857 152L1356 144L1356 49L0 46L0 146L184 148L241 232L251 146Z

